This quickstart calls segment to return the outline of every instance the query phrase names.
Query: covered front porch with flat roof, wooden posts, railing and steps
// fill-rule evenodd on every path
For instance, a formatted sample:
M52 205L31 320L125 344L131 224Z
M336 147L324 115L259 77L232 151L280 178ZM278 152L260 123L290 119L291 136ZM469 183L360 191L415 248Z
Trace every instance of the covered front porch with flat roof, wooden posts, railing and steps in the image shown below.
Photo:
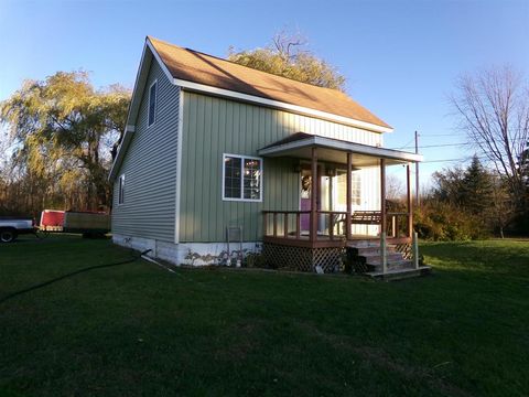
M413 255L410 164L420 161L421 155L302 132L263 148L259 153L269 158L298 159L300 164L303 161L307 169L305 172L310 173L312 179L307 194L309 210L274 208L262 212L263 255L267 259L289 262L303 271L343 270L344 258L354 264L355 271L373 275L386 275L403 268L403 265L419 268L417 249ZM322 164L326 167L322 168ZM406 167L407 193L403 211L389 208L386 200L386 168L395 164ZM378 184L379 197L370 201L378 205L368 203L368 210L354 208L353 172L366 168L379 170L378 181L369 181ZM323 173L323 169L327 172ZM345 176L345 211L334 211L332 207L322 210L324 197L321 179L325 175L336 176L337 169L344 170L342 175ZM330 184L331 191L332 186L333 184Z

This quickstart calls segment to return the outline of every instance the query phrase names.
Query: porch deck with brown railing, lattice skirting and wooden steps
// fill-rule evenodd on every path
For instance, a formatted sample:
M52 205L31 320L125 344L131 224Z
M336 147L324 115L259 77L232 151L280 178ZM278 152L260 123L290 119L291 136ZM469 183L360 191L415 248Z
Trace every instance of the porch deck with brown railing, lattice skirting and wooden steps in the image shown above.
M391 221L386 224L388 238L382 232L378 236L352 233L355 224L375 225L382 230L380 212L345 215L330 211L316 211L312 215L306 211L264 211L266 257L272 262L304 271L317 271L320 268L324 272L336 272L348 266L349 271L382 279L388 279L380 277L386 273L391 273L393 279L424 273L417 271L419 264L412 260L412 238L406 235L409 221L404 224L398 222L399 217L408 214L386 214ZM302 229L302 216L319 218L315 233L314 229ZM311 225L314 224L311 222ZM399 225L404 226L404 230Z

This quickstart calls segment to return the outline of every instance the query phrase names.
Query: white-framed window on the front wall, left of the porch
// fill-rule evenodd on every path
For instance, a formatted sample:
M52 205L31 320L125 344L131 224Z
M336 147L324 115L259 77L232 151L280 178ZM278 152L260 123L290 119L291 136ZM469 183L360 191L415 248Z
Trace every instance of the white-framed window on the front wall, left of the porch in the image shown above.
M262 160L224 154L223 200L261 201Z

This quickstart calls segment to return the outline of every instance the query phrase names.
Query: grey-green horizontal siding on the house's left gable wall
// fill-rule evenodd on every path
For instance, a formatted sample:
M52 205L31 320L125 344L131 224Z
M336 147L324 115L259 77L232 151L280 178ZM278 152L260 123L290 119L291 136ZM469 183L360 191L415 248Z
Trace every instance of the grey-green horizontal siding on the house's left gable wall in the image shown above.
M154 125L147 127L149 87L158 81ZM152 62L141 100L136 132L120 167L125 203L117 204L115 182L112 232L126 236L174 242L176 149L180 88Z

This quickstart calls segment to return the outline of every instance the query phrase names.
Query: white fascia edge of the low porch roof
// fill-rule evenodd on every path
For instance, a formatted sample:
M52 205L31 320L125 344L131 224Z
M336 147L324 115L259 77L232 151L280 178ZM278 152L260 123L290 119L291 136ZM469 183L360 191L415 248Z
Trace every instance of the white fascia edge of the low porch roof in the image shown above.
M258 153L259 155L270 155L270 154L280 153L282 151L295 150L295 149L301 149L301 148L312 147L312 146L342 150L344 152L373 155L373 157L384 158L384 159L401 160L407 162L423 161L423 157L421 154L409 153L409 152L403 152L403 151L398 151L392 149L370 147L370 146L360 144L360 143L341 142L341 141L316 137L316 136L301 139L294 142L288 142L288 143L280 144L272 148L260 149L258 150Z

